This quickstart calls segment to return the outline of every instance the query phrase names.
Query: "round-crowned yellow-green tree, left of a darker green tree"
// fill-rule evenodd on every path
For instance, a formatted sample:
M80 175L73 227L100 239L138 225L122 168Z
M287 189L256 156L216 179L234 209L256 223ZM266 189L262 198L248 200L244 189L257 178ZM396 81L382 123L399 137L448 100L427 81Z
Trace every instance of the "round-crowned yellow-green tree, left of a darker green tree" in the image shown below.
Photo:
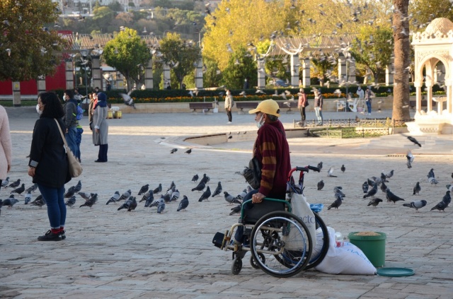
M139 86L143 81L144 68L151 59L151 52L147 43L137 35L137 31L125 28L105 44L103 59L125 76L127 89L130 90L133 83Z

